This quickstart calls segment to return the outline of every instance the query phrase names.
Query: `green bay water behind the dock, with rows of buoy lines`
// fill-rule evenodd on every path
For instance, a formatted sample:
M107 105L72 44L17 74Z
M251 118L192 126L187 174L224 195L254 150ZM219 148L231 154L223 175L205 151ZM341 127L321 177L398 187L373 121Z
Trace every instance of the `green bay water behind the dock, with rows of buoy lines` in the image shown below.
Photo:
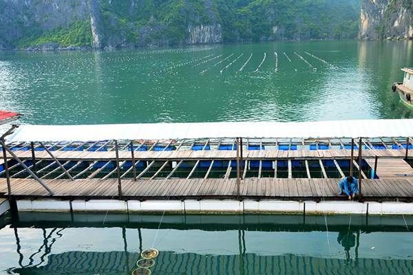
M401 67L413 65L412 46L310 41L0 52L0 109L24 113L21 122L30 124L411 118L390 87L402 80Z

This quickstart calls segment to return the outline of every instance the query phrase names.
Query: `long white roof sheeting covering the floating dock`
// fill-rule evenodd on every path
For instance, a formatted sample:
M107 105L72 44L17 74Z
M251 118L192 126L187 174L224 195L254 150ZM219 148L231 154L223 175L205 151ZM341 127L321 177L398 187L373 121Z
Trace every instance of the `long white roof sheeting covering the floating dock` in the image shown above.
M22 125L8 142L171 140L215 137L407 137L413 119L320 122L202 122L156 124Z

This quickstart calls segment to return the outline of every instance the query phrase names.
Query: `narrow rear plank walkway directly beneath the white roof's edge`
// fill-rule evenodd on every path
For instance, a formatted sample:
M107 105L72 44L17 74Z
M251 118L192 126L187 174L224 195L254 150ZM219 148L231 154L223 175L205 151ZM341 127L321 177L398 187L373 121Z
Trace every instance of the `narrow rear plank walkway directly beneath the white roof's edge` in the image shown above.
M31 151L14 151L20 159L32 159ZM75 161L96 161L114 160L115 151L52 151L53 155L59 160ZM412 153L410 153L411 155ZM135 159L147 160L211 160L211 159L236 159L237 151L135 151ZM332 150L244 150L243 158L253 159L350 159L351 150L332 149ZM376 155L386 158L405 157L405 150L386 149L386 150L363 150L363 159L374 158ZM10 159L12 156L8 154ZM357 151L354 151L354 158L357 158ZM52 160L52 157L45 151L36 151L36 159ZM130 160L130 151L119 151L120 160ZM3 160L1 160L3 162Z

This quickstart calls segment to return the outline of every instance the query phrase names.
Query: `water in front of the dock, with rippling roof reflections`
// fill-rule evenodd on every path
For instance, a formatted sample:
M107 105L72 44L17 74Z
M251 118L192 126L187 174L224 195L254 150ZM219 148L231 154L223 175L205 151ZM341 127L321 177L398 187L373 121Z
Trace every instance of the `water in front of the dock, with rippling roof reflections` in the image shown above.
M412 274L412 226L407 216L21 212L0 230L0 272L126 275L153 246L152 274Z

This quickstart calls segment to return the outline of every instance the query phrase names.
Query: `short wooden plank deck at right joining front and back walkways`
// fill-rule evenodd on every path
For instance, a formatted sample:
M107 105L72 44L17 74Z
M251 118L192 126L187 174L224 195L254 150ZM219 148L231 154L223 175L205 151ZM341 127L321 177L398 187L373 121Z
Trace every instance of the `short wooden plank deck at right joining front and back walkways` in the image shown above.
M366 159L366 162L374 168L374 159ZM404 159L377 159L377 176L380 179L400 179L405 175L413 179L413 168Z

